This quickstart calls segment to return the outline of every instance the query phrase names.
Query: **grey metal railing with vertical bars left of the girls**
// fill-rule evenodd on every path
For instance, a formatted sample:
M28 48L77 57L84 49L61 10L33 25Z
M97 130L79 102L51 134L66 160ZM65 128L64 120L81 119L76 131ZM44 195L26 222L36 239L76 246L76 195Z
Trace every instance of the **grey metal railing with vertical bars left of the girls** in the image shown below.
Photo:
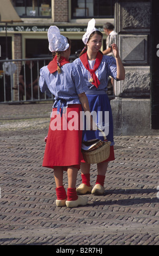
M49 90L41 93L39 88L40 68L47 65L51 59L52 57L0 60L0 103L53 100ZM28 61L30 62L29 74L26 63ZM20 75L21 71L23 75ZM33 72L36 73L36 81L34 81ZM36 90L34 90L35 87Z

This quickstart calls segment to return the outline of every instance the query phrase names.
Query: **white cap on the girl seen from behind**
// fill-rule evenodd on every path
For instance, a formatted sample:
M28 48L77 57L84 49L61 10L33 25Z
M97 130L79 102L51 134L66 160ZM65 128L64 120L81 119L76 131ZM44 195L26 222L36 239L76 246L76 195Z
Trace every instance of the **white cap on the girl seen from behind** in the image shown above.
M57 26L50 26L47 32L48 48L51 52L62 52L69 48L68 40L60 34Z

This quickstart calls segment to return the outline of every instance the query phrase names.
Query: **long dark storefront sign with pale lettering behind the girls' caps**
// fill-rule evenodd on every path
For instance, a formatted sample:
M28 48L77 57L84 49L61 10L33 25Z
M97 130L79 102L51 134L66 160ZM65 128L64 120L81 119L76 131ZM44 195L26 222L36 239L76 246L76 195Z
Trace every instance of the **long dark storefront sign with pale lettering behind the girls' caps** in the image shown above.
M7 32L47 32L50 26L8 26ZM60 32L85 32L87 27L84 26L58 26ZM103 31L102 26L96 27ZM0 32L5 32L5 26L0 26Z

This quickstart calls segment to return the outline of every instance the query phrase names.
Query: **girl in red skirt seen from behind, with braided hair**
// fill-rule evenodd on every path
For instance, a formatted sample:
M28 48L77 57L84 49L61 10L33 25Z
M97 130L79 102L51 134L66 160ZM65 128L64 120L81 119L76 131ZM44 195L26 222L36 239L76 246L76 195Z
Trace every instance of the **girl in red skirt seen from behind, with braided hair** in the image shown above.
M88 88L79 68L69 63L70 40L60 35L56 26L51 26L47 35L54 58L40 69L39 86L42 93L49 89L55 101L42 166L54 169L56 205L76 207L88 202L87 197L77 196L76 192L82 154L80 112L82 108L90 111L85 95ZM63 186L64 170L68 172L67 193Z

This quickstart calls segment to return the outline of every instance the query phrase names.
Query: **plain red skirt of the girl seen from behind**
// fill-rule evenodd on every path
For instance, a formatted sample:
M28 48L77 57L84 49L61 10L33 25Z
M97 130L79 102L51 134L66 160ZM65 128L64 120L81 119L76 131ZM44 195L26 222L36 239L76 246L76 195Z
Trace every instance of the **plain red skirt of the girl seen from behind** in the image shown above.
M81 104L70 104L65 111L61 117L57 114L57 108L53 108L42 163L44 167L62 166L64 170L67 170L68 166L80 168L82 157Z

